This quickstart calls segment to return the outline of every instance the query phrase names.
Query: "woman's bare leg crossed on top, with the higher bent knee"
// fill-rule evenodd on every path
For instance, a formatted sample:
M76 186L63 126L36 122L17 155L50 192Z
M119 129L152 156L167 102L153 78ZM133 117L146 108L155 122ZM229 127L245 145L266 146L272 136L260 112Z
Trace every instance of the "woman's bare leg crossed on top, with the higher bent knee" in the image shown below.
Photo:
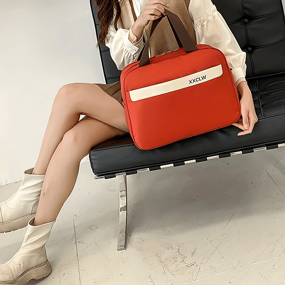
M66 84L59 89L54 99L40 153L32 174L46 174L56 147L64 134L78 123L80 114L120 129L122 134L129 133L124 108L117 100L96 84Z

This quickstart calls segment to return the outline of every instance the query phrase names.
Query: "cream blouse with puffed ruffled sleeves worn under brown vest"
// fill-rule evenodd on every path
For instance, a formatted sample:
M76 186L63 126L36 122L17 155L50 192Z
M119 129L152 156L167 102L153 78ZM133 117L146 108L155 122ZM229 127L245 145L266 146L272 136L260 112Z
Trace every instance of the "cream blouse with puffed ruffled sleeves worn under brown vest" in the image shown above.
M137 17L141 14L141 10L146 4L146 1L147 0L133 0ZM241 50L233 33L212 1L191 0L188 11L194 22L197 44L208 44L223 52L229 67L232 69L236 86L238 86L240 82L246 81L246 53ZM129 30L119 28L116 31L114 19L115 15L109 26L105 43L110 49L111 58L117 68L123 70L128 64L137 61L144 46L143 36L147 39L147 35L144 29L143 36L137 40L137 36L135 36L132 31L133 26Z

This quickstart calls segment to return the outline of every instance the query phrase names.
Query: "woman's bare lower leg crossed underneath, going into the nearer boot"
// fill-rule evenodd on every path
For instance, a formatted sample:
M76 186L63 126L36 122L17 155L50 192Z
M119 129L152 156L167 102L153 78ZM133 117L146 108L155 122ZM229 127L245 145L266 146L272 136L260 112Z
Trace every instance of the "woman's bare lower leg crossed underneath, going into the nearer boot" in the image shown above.
M122 133L125 132L85 116L64 134L48 164L33 225L56 219L74 188L80 161L91 147Z

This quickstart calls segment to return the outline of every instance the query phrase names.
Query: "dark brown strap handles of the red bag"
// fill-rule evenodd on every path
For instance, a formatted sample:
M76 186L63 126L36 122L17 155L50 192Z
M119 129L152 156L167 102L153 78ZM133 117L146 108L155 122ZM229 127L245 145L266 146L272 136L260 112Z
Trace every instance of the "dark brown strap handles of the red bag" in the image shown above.
M168 22L170 24L170 27L172 29L172 32L175 36L179 48L183 47L186 53L198 50L196 44L193 42L192 38L188 34L186 28L184 27L179 17L176 14L168 11L167 9L165 9L165 11L167 13L166 15L162 15L162 17L152 21L150 36L147 39L146 43L144 44L143 49L141 50L141 53L138 57L138 60L140 60L139 67L150 64L149 55L148 55L149 39L152 36L152 33L154 32L159 22L165 16L167 16Z

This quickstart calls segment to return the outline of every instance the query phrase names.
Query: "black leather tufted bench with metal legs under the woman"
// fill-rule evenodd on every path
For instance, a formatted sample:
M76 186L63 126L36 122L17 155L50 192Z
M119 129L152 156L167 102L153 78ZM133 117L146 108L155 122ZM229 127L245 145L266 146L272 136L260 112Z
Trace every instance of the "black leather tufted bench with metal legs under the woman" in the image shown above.
M246 79L251 89L258 122L253 132L231 125L152 150L135 146L129 134L113 137L89 152L95 178L119 176L120 218L117 250L125 250L127 176L142 171L175 167L213 158L247 154L285 146L285 17L282 0L212 0L247 53ZM97 38L97 6L90 1ZM121 70L109 48L99 45L106 84L120 80Z

